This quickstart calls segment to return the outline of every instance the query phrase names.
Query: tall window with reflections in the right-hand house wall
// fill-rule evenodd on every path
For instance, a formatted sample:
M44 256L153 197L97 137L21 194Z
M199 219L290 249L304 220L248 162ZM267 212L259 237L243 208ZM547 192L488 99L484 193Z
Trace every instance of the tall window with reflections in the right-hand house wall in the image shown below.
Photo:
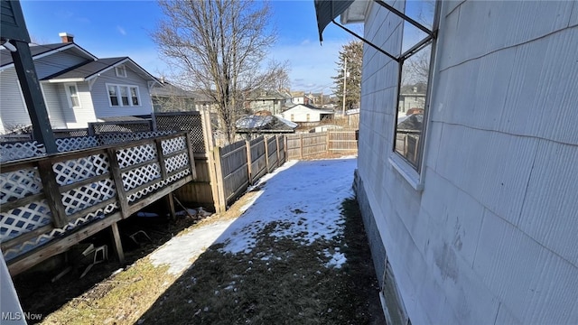
M421 13L416 20L428 30L435 31L435 4L428 1L407 1L406 14L411 16L412 13ZM402 52L405 56L402 56L400 61L394 152L419 172L424 151L423 136L429 106L428 90L435 38L407 22L403 28ZM422 40L422 45L416 47L415 40Z

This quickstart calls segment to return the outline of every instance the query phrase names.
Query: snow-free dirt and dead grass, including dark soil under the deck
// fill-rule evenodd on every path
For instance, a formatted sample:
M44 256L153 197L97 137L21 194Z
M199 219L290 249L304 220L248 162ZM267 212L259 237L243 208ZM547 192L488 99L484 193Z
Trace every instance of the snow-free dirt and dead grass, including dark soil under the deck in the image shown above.
M182 274L157 267L149 256L174 236L238 218L252 200L248 192L227 212L202 220L128 218L119 225L125 234L126 267L114 260L73 270L51 283L59 270L23 274L14 279L24 311L41 313L46 324L385 324L378 298L367 238L357 202L341 203L343 234L335 241L300 245L292 238L269 236L267 225L251 252L230 254L222 244L208 246ZM157 208L163 209L163 208ZM140 245L127 238L144 230L152 242ZM107 243L108 234L90 238ZM320 252L340 250L341 267L327 267ZM275 255L271 259L264 255Z

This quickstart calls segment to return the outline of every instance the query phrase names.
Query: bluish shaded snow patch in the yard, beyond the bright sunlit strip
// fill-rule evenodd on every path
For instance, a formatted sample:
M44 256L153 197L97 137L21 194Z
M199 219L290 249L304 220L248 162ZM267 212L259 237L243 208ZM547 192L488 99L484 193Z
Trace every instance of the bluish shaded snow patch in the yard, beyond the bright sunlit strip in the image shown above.
M353 195L357 160L290 161L261 182L262 193L219 239L224 252L250 253L258 233L271 223L269 236L291 237L303 244L332 240L343 233L341 202ZM288 225L288 226L287 226Z

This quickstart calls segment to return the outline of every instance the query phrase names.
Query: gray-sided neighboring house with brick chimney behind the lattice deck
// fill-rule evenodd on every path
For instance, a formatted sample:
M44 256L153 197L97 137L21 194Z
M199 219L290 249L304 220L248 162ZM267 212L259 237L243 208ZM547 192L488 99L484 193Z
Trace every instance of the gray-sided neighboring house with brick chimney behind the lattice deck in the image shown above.
M61 33L62 42L31 46L53 129L83 128L100 117L153 112L154 77L128 57L97 58ZM12 56L0 50L0 133L30 125Z

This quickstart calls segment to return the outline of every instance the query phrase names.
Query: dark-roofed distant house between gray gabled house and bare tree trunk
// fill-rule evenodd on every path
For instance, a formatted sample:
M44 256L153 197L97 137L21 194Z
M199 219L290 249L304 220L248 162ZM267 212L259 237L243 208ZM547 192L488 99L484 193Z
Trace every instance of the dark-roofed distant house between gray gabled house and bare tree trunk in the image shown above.
M154 112L191 112L196 109L195 93L172 85L164 78L151 88Z

